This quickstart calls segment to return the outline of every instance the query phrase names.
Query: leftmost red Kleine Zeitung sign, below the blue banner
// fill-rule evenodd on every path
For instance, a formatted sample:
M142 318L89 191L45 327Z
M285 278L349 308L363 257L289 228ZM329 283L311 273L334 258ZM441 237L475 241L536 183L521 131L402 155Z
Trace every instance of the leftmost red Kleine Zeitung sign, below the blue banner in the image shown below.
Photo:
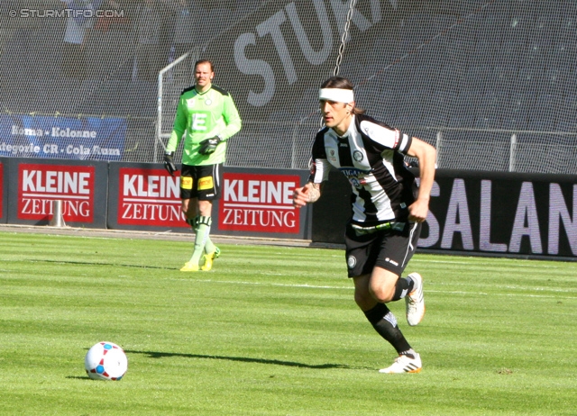
M66 222L93 222L95 167L22 163L18 167L21 220L50 220L52 201L62 201Z

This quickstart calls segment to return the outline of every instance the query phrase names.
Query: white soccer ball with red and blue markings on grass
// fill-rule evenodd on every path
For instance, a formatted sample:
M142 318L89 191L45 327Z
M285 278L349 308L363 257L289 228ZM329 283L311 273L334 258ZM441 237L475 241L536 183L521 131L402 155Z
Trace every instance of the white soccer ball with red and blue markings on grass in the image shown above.
M103 341L88 349L84 367L93 380L120 380L128 369L128 359L123 348Z

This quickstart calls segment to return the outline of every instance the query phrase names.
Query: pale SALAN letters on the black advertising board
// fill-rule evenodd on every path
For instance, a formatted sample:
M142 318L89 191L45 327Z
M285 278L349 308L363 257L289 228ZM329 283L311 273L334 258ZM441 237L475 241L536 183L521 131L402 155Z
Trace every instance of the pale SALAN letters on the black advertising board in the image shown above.
M428 236L419 240L419 247L432 248L440 241L441 249L453 249L453 238L459 234L463 249L477 249L495 253L520 253L521 242L525 238L529 242L532 254L544 254L543 241L546 241L546 254L559 254L559 241L562 238L561 226L565 231L564 237L569 242L572 255L577 255L577 185L572 185L572 206L568 206L563 196L561 185L549 184L548 202L543 203L543 195L540 203L537 203L536 191L532 182L523 182L519 187L516 209L510 215L493 216L491 211L492 181L481 180L480 206L470 206L467 198L465 180L455 178L453 188L449 196L448 207L441 228L434 213L429 213L426 219ZM440 196L440 186L435 182L432 197ZM547 229L543 230L539 224L539 211L541 215L547 212ZM571 208L571 209L570 209ZM472 214L478 213L479 218L472 218ZM479 224L479 240L475 241L472 231L472 222ZM507 223L503 223L506 221ZM512 224L510 234L506 236L507 242L503 241L502 230ZM492 242L491 230L499 232L500 242Z

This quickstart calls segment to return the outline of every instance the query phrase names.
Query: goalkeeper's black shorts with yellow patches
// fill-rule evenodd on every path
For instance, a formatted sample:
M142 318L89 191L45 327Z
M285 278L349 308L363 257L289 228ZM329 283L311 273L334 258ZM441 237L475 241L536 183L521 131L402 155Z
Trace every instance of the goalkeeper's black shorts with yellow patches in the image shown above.
M212 201L220 197L222 165L180 167L180 199Z

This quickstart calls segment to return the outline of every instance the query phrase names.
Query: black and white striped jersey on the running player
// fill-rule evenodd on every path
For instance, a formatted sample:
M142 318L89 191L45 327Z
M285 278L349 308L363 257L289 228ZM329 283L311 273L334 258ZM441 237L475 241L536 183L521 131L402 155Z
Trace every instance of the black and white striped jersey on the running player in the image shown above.
M411 142L407 134L367 115L355 115L343 137L327 127L316 133L309 181L327 180L332 165L353 186L353 224L405 222L416 189L415 176L404 162Z

